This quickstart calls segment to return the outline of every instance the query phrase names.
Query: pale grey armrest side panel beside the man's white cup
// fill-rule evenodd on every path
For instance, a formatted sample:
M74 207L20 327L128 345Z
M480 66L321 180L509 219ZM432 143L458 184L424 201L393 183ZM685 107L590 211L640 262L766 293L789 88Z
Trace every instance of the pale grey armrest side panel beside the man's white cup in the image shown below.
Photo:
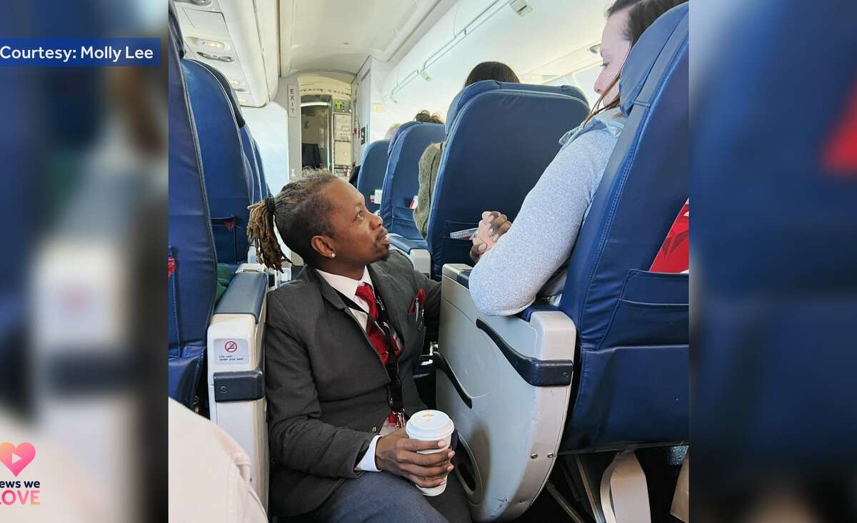
M483 316L468 276L469 265L443 266L436 403L459 431L456 454L470 467L463 481L470 482L473 519L512 520L554 467L571 402L577 329L561 311L534 311L529 320Z

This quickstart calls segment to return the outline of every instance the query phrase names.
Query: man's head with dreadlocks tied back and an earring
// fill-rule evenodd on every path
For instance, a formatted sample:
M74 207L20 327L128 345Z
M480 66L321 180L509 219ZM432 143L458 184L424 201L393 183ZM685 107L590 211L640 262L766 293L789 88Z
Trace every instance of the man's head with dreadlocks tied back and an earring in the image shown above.
M276 196L250 205L247 235L256 256L273 270L285 258L274 234L307 264L322 270L363 267L389 256L387 229L366 209L363 194L326 170L303 169L303 178Z

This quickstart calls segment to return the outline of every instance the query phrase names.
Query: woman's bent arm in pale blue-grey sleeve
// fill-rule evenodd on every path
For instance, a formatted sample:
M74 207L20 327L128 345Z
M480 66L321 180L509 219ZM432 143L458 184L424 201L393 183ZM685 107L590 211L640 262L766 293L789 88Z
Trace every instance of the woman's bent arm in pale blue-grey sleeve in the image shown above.
M562 149L532 188L512 228L470 274L483 314L510 316L536 294L572 252L584 214L613 152L606 131L581 134Z

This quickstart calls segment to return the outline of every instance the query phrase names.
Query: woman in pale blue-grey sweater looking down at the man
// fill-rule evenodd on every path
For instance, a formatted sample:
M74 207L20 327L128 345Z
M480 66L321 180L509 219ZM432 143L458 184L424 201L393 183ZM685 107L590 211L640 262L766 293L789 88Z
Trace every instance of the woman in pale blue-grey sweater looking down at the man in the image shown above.
M512 315L536 297L558 297L565 276L560 268L572 252L625 126L619 108L622 66L645 29L685 2L616 0L607 10L602 72L595 83L600 96L590 116L560 139L560 152L527 194L514 225L500 212L482 213L470 250L477 262L470 274L470 294L482 313Z

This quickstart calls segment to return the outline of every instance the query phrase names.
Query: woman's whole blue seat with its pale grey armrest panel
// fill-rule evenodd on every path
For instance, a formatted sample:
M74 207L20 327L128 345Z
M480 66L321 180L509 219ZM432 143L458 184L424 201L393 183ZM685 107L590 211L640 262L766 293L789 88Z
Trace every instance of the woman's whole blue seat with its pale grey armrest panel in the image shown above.
M688 275L649 270L688 197L687 13L687 4L670 9L627 58L628 120L559 306L482 315L467 289L470 266L443 266L436 404L455 419L474 520L522 514L560 455L576 455L574 473L604 507L645 484L629 449L688 438ZM616 449L623 482L614 482L618 468L590 467Z

